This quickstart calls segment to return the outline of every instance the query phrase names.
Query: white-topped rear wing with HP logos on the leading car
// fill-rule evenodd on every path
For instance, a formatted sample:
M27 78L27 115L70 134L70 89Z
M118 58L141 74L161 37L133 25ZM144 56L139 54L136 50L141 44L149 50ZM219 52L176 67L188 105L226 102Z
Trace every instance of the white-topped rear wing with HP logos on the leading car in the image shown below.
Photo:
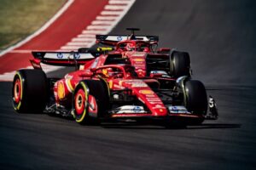
M34 59L31 59L31 63L34 68L41 68L40 63L46 65L78 66L95 59L95 56L90 53L78 52L33 51L32 55Z

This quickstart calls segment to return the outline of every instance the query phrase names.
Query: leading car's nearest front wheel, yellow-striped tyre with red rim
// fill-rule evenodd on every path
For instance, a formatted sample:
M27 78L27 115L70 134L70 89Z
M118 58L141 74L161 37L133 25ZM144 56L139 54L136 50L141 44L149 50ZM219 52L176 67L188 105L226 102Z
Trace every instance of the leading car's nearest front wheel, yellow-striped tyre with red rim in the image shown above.
M96 124L108 109L108 89L97 80L79 82L73 94L73 116L80 124Z

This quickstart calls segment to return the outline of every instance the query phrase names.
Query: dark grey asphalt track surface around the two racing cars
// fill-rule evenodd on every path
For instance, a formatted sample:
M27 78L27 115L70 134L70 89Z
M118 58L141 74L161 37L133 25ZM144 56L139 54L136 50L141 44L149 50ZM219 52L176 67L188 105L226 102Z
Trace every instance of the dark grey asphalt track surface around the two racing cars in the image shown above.
M16 114L10 82L0 83L3 169L254 169L256 167L255 3L137 1L127 26L189 51L194 77L218 102L219 119L201 126L80 126L61 117Z

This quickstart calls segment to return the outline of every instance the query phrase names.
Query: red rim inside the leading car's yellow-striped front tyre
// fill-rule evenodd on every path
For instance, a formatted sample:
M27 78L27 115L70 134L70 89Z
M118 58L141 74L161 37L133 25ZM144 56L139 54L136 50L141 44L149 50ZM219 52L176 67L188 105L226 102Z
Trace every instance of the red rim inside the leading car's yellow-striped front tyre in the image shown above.
M85 93L83 89L79 89L78 93L75 96L75 110L78 115L84 113L85 108Z

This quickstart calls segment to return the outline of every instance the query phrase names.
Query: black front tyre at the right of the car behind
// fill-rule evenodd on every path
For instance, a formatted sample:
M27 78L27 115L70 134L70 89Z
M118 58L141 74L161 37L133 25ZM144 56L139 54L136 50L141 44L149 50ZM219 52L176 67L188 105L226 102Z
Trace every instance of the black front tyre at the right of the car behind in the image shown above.
M189 53L175 51L171 58L171 76L172 77L190 77L190 58Z

